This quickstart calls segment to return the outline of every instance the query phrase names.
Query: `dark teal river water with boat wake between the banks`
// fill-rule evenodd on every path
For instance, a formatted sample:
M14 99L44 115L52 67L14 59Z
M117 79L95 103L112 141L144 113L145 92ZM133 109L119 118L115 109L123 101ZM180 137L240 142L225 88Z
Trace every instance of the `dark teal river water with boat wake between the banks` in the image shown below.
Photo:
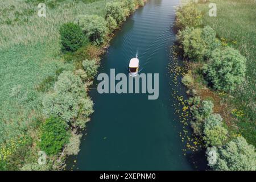
M76 160L73 169L195 169L181 151L182 126L172 106L175 101L167 68L170 46L175 41L174 6L178 3L179 0L150 0L116 33L99 73L110 75L111 68L115 73L127 73L129 60L138 53L141 73L159 73L159 98L147 100L147 94L99 94L92 89L95 112L86 127L79 155L68 159ZM198 160L205 160L204 156Z

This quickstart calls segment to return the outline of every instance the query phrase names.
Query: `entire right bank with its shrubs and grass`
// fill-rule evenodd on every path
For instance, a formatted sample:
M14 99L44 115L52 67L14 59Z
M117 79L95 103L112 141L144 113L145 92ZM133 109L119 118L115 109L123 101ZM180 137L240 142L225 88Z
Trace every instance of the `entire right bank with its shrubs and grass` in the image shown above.
M250 25L254 10L249 7L255 3L214 1L218 16L209 17L210 2L187 2L176 9L178 46L174 48L183 55L187 71L181 82L189 96L183 109L190 111L193 134L207 149L209 167L255 171L255 38L246 37L255 26ZM241 10L240 19L230 6L251 11ZM234 27L240 24L229 22L235 17L249 27L238 31Z

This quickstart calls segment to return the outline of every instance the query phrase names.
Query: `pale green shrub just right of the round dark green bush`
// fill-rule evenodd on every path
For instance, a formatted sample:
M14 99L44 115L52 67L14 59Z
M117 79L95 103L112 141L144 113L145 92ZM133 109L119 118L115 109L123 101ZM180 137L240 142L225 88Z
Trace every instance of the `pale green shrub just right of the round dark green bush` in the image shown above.
M104 43L104 38L108 34L104 18L98 15L79 15L75 22L81 26L82 31L88 36L90 42L96 44Z

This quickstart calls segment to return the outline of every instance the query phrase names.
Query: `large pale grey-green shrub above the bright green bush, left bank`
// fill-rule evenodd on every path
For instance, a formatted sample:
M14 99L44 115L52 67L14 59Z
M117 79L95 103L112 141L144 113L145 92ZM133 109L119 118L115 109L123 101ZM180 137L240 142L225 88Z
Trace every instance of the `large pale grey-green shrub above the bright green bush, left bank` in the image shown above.
M70 71L60 74L52 93L43 98L43 113L49 117L60 117L72 126L84 128L93 113L93 102L86 96L81 78ZM81 120L81 121L80 121Z

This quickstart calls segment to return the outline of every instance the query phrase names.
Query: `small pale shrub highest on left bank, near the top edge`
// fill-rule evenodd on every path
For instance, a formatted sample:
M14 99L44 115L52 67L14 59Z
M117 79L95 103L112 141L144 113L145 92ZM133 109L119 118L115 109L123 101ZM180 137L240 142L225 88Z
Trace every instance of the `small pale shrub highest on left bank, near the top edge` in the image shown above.
M126 20L126 12L121 2L108 2L106 4L106 18L112 16L117 24L121 24Z

